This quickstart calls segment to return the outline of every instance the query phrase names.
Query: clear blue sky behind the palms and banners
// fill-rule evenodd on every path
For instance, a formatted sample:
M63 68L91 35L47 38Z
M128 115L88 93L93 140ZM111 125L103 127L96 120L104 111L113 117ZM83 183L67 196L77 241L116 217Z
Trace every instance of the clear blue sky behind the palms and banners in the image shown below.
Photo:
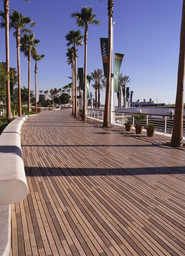
M38 63L38 90L61 88L71 82L65 35L70 29L77 29L70 14L85 5L93 6L101 23L101 27L89 25L87 74L90 74L94 69L103 69L100 37L108 37L107 0L30 0L28 5L25 0L10 0L10 9L21 11L37 23L32 29L41 40L37 52L46 55ZM0 9L3 9L3 0L0 0ZM160 103L175 102L181 11L182 0L114 0L114 52L125 54L121 72L131 79L134 101L156 100L157 96ZM84 33L83 28L80 30ZM83 67L83 46L78 56L77 65ZM0 30L0 61L5 61L4 30ZM16 67L16 41L12 31L10 66ZM27 87L27 70L27 58L21 54L21 86ZM31 62L31 89L34 90L34 61ZM101 92L101 103L104 97L105 92Z

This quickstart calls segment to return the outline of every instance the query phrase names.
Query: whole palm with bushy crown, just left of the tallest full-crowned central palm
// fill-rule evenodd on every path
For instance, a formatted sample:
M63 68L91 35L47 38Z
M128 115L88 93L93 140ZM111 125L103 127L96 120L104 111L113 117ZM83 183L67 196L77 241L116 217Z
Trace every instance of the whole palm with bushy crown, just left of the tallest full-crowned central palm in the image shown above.
M80 32L80 30L70 30L69 33L66 35L66 40L69 41L66 45L70 46L73 45L74 47L74 58L75 58L75 108L74 108L74 116L76 117L78 115L77 113L77 93L76 93L76 83L77 83L77 64L76 64L76 58L77 58L77 51L76 46L82 45L83 36Z

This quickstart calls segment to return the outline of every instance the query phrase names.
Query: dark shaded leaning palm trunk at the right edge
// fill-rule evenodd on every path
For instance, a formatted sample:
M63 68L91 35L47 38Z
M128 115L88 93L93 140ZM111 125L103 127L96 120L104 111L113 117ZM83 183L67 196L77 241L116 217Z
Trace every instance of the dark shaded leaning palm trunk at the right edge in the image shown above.
M182 21L180 33L180 54L178 65L177 92L175 101L175 117L171 146L183 146L183 104L184 104L184 79L185 79L185 0L182 6Z

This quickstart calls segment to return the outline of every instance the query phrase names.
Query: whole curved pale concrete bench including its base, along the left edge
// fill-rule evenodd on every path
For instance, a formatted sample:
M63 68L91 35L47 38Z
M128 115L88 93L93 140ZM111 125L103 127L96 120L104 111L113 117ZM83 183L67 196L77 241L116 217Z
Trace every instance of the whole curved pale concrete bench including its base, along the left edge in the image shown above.
M0 135L0 256L9 254L10 204L22 201L28 193L20 139L26 119L27 116L17 117Z

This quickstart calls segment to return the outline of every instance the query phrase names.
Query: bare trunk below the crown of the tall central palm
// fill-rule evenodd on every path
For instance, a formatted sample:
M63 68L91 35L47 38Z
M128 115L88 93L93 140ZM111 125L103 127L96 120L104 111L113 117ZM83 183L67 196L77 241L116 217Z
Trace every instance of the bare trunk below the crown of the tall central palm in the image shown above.
M82 112L82 120L86 121L86 75L87 75L87 33L88 33L88 25L85 25L84 32L84 90L83 90L83 112Z

